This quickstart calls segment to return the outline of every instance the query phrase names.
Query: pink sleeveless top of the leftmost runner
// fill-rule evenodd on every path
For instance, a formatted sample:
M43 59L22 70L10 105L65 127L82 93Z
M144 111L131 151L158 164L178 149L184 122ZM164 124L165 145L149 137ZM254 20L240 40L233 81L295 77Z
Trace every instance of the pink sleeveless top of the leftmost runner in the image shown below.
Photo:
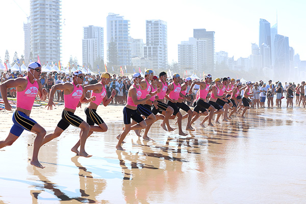
M23 91L17 91L17 107L31 111L35 97L38 93L38 83L34 81L34 83L31 84L29 78L25 78L28 80L28 85Z

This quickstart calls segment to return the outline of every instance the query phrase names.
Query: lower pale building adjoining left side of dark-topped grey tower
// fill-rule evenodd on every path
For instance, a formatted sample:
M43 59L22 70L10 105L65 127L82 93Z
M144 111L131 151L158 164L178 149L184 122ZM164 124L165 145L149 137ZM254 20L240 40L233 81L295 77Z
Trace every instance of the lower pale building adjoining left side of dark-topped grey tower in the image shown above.
M178 59L179 67L184 68L196 68L196 39L189 38L189 41L182 41L178 45Z

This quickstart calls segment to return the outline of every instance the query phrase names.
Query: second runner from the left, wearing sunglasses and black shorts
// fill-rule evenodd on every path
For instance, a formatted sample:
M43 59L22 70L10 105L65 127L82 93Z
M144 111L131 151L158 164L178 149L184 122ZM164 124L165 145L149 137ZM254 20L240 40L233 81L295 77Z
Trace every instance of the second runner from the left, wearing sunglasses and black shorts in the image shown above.
M77 155L82 157L91 157L91 155L88 155L85 151L85 142L88 137L88 133L90 131L90 126L87 122L85 122L82 118L80 118L77 115L74 115L75 109L77 107L81 107L80 99L81 97L84 97L85 92L83 88L83 79L84 75L82 71L74 71L73 72L73 79L72 83L66 82L65 84L56 84L52 86L50 90L49 95L49 101L46 107L48 107L48 110L52 110L54 103L53 103L53 97L56 92L56 90L63 90L64 91L64 100L65 100L65 108L62 113L62 119L59 121L55 131L51 134L48 134L45 136L45 138L42 141L42 144L45 144L49 142L50 140L59 137L66 129L67 127L72 124L73 126L80 127L81 133L80 133L80 151L71 149L73 152L77 153ZM91 100L94 100L94 97L90 98Z

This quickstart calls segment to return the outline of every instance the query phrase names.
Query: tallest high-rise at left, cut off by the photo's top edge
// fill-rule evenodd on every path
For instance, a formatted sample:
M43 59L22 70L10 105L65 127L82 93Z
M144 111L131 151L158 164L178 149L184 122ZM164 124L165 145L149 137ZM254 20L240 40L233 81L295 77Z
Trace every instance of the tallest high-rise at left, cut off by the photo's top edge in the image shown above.
M40 62L61 59L61 0L30 0L31 52Z

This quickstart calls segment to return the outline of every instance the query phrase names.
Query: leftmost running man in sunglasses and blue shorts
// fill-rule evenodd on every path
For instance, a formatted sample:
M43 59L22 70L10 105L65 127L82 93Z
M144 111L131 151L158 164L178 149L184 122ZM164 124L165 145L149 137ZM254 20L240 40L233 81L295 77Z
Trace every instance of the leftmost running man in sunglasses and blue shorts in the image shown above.
M13 114L13 126L8 137L0 141L0 148L12 145L23 130L27 130L37 134L34 140L33 157L31 164L44 168L38 161L38 151L42 144L43 137L46 134L45 129L35 120L30 118L30 113L34 104L36 95L41 100L46 99L47 91L42 88L40 83L41 66L37 62L32 62L28 66L28 75L22 78L11 79L1 85L1 93L5 104L5 109L12 110L9 104L6 92L8 88L16 87L17 90L17 108Z

